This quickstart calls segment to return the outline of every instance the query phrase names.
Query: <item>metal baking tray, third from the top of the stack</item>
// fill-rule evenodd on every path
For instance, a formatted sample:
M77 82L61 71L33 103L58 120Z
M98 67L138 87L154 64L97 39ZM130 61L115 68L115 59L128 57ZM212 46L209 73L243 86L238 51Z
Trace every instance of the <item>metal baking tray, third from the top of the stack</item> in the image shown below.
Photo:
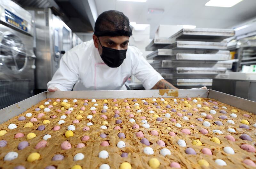
M158 49L147 55L147 59L161 59L161 60L212 60L221 61L231 59L228 50L219 50L215 52L208 52L196 50L172 50L172 49Z

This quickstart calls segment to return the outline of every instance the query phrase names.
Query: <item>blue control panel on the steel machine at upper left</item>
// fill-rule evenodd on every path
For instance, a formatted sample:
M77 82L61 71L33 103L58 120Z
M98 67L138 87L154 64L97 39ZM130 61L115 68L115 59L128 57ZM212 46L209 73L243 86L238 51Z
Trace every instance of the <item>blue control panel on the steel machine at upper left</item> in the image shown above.
M5 10L5 20L9 24L28 32L28 22L8 10Z

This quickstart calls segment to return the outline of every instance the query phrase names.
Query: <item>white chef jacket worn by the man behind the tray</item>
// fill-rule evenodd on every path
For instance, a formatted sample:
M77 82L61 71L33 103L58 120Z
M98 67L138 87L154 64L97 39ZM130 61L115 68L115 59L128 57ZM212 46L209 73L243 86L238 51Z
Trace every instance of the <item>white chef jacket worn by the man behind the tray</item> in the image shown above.
M133 46L128 46L126 58L119 67L108 67L90 40L63 55L60 67L47 87L61 91L72 90L73 87L73 90L126 90L124 83L131 75L139 79L145 89L153 88L164 79Z

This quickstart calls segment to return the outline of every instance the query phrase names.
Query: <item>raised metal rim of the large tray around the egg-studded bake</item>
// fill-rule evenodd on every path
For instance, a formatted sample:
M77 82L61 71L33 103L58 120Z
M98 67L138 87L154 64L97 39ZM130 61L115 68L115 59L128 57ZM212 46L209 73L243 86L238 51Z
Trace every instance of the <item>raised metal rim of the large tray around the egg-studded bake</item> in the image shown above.
M208 97L236 108L256 114L256 102L231 96L209 89L180 89L180 90L106 90L106 91L59 91L43 92L19 103L0 110L0 123L11 119L47 98L146 98L146 97Z

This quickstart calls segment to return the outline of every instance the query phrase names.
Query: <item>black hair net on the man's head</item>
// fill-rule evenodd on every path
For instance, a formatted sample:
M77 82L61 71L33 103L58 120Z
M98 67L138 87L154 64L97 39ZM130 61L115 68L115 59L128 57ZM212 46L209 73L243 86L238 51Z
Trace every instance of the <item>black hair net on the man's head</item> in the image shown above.
M111 10L99 15L94 26L96 36L131 36L132 26L123 12Z

